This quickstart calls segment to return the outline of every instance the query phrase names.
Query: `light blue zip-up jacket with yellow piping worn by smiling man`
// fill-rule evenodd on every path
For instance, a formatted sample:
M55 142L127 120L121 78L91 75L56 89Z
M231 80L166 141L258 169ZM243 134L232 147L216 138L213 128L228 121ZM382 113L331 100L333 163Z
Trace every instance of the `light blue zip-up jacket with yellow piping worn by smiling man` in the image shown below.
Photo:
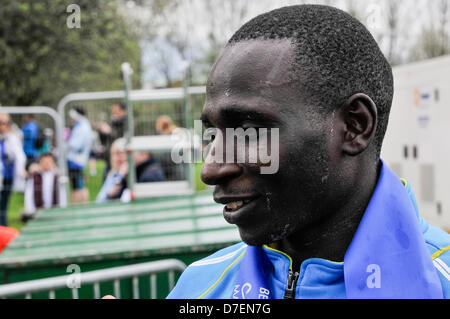
M423 238L419 238L418 240L419 242L422 240L425 242L425 245L422 244L422 246L426 246L424 248L425 253L429 254L430 261L432 260L432 265L434 265L437 273L437 276L436 274L433 275L435 278L439 278L436 281L440 281L442 296L444 298L450 298L450 235L437 227L429 225L419 216L417 203L411 187L406 181L402 180L402 182L405 188L401 187L400 191L406 189L405 194L407 195L405 196L407 199L410 199L410 204L414 207L411 214L414 214L415 211L416 215L415 218L412 217L412 220L417 221L415 226L423 234ZM389 198L383 199L384 202L389 202L389 200ZM368 210L366 210L367 213ZM366 218L366 214L364 218ZM379 217L376 216L376 218ZM360 228L361 225L358 230ZM418 231L419 234L420 231ZM403 239L406 239L407 242L413 241L411 238L408 240L408 237ZM392 245L395 245L395 243L392 243ZM402 245L405 245L404 240ZM247 248L248 246L245 243L238 243L192 263L183 272L177 285L167 298L230 299L235 297L235 294L239 293L239 291L235 290L235 284L238 278L240 264ZM383 251L383 249L385 248L380 248L380 251ZM270 272L267 274L272 297L276 299L283 298L287 288L292 260L285 253L269 246L263 246L262 251L272 264L272 267L269 267ZM431 271L434 270L432 269ZM405 282L404 287L401 289L407 291L409 285L410 283ZM344 262L333 262L320 258L305 260L301 264L299 278L295 287L295 298L347 298Z

